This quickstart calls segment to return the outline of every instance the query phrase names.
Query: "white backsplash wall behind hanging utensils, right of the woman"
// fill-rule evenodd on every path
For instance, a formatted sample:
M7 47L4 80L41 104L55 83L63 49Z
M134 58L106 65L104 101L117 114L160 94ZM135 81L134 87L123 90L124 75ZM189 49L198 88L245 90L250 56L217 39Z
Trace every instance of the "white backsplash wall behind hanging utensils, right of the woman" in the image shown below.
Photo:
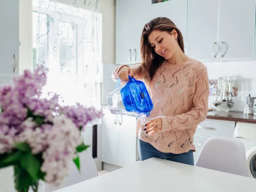
M238 87L238 97L234 98L232 110L243 111L245 106L244 97L251 94L256 97L256 61L233 61L233 62L203 62L208 69L209 79L218 79L223 76L234 80ZM216 97L209 97L209 107L216 108L213 102Z

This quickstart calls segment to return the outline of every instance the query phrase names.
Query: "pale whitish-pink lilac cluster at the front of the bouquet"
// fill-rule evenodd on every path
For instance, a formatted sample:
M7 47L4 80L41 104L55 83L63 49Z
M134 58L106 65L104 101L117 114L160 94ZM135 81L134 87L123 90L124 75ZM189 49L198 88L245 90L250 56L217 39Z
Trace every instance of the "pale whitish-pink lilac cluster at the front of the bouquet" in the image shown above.
M82 138L76 125L64 114L55 117L53 124L52 129L46 131L49 147L43 152L41 170L46 173L47 182L58 185L66 177Z

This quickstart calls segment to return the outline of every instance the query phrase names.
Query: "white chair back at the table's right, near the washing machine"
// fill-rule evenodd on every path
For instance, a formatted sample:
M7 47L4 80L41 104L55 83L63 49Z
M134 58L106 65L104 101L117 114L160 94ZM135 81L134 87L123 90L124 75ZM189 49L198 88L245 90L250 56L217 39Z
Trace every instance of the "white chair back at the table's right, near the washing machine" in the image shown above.
M203 145L195 166L249 177L245 148L238 139L212 137Z

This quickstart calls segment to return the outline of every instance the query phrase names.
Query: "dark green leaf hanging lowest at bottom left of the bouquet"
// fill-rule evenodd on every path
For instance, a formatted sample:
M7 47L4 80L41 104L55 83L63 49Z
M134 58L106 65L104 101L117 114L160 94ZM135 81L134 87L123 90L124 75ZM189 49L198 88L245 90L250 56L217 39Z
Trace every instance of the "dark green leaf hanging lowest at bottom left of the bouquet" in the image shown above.
M14 166L14 181L17 191L27 191L33 183L33 179L23 168Z

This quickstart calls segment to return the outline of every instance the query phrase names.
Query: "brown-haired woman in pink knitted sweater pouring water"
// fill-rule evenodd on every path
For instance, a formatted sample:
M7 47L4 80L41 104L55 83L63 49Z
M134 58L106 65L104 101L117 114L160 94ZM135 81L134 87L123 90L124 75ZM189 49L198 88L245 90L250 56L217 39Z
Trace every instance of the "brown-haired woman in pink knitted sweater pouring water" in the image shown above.
M142 63L130 68L121 65L112 78L128 82L128 75L145 82L154 109L140 134L137 122L140 159L152 157L194 165L193 145L197 125L208 112L209 79L207 68L184 54L183 37L165 17L152 19L141 35Z

